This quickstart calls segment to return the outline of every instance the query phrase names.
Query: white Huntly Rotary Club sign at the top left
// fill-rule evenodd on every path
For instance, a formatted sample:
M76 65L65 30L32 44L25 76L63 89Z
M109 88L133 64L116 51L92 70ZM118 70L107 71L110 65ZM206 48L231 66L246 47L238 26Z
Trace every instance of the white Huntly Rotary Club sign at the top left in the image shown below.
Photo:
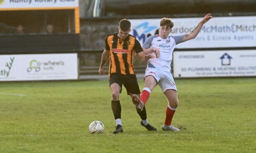
M43 7L78 7L78 0L0 0L0 10Z

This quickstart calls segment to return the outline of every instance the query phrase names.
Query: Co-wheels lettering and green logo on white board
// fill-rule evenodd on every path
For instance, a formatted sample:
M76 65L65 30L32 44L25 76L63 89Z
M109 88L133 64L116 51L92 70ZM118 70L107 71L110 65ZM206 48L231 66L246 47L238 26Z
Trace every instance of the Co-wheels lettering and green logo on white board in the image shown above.
M27 68L27 72L31 72L34 70L35 72L39 72L42 70L53 70L56 66L63 66L65 63L60 61L47 61L47 62L38 62L37 60L31 60L29 63L29 67Z

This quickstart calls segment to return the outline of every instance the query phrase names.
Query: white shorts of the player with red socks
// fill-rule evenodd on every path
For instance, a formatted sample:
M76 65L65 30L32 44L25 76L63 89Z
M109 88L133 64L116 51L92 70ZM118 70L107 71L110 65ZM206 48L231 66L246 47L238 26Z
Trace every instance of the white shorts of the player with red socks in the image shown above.
M168 89L178 91L171 72L156 70L156 68L147 67L145 77L149 75L154 76L163 93Z

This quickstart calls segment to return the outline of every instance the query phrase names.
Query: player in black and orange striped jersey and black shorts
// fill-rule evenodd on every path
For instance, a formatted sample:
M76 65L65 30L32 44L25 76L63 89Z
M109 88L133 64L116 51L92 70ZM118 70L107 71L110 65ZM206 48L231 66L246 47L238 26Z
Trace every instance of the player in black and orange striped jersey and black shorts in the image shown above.
M153 58L153 55L145 54L140 42L130 32L131 23L127 19L119 22L119 32L108 35L105 40L105 49L102 53L99 74L104 74L104 65L109 60L109 86L112 93L111 107L116 120L116 129L113 133L123 132L121 123L121 104L119 95L122 91L122 86L126 88L127 94L130 97L133 94L140 97L140 88L137 82L137 77L133 68L134 53L141 60L146 61ZM137 113L142 121L140 124L147 130L156 128L149 124L145 107L136 107Z

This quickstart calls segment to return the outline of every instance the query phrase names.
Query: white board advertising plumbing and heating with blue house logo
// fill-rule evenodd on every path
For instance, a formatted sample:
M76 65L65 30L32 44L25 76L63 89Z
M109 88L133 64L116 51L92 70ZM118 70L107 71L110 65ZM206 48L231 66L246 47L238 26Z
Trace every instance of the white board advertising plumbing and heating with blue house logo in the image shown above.
M175 51L173 76L256 76L256 50Z

